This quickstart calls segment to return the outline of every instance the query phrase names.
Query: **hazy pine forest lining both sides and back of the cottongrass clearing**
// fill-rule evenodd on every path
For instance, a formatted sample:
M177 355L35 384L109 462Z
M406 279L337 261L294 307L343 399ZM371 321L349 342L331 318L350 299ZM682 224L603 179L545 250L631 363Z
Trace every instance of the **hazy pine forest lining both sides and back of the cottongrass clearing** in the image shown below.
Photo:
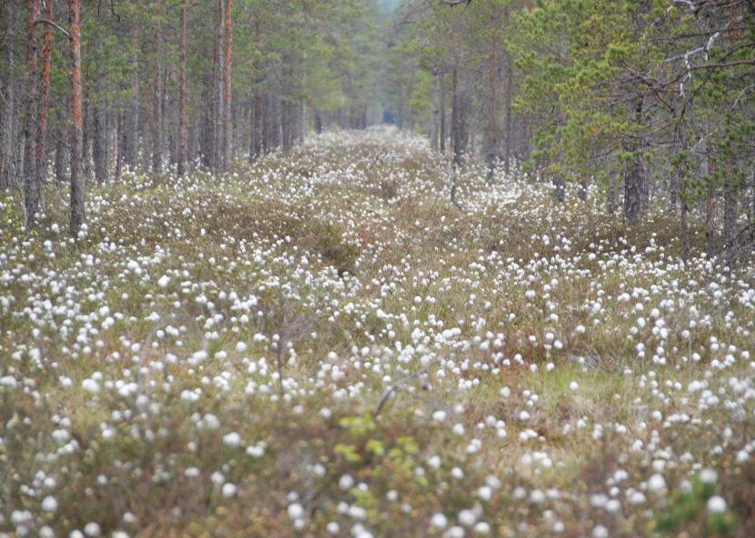
M751 0L5 0L0 185L180 177L380 122L454 165L755 240ZM80 16L79 16L80 12ZM80 21L79 21L80 19ZM80 35L80 37L79 37ZM569 185L576 187L571 188Z

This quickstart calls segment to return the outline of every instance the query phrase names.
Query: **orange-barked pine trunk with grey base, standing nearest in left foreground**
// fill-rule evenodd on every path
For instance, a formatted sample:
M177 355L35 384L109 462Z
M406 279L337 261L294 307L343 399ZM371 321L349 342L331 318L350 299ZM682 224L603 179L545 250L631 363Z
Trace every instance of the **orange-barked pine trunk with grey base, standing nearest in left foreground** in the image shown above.
M81 29L79 0L68 0L68 32L71 49L71 234L84 224L84 184L81 172Z

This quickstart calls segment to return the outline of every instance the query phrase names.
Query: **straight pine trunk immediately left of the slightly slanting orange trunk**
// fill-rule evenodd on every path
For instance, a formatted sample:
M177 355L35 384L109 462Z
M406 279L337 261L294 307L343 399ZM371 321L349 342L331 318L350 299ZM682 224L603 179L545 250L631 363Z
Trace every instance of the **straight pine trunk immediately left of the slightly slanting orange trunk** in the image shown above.
M36 21L39 18L37 0L28 0L26 19L26 99L24 126L24 207L25 224L30 228L35 224L39 212L40 193L37 183L35 167L35 134L36 134Z

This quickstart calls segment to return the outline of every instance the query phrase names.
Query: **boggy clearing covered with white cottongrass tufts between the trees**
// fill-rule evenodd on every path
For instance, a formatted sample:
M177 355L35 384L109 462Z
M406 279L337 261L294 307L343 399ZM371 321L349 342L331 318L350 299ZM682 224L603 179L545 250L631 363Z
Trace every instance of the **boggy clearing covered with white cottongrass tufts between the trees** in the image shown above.
M752 536L755 268L449 169L323 134L5 227L0 534Z

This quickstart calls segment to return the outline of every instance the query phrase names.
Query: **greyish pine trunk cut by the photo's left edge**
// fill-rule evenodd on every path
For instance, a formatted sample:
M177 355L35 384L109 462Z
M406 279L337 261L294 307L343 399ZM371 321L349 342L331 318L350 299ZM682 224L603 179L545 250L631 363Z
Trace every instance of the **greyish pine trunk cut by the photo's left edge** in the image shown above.
M3 8L3 42L5 65L0 66L0 89L5 99L0 100L0 188L10 185L11 154L13 148L13 120L15 111L13 2Z

